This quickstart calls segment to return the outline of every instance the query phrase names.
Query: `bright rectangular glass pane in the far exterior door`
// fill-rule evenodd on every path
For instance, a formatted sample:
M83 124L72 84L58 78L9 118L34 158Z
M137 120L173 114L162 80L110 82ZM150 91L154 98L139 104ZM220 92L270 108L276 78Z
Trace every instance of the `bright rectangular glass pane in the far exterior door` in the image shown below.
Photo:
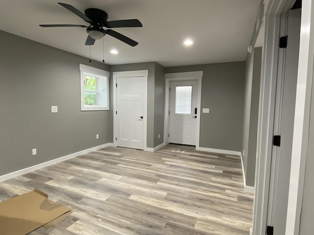
M176 114L191 114L192 86L176 87Z

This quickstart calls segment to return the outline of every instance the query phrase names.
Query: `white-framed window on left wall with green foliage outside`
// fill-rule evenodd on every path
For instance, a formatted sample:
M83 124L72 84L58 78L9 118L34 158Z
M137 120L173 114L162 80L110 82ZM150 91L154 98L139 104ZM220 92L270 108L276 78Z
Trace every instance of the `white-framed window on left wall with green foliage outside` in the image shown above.
M109 110L109 72L79 65L81 111Z

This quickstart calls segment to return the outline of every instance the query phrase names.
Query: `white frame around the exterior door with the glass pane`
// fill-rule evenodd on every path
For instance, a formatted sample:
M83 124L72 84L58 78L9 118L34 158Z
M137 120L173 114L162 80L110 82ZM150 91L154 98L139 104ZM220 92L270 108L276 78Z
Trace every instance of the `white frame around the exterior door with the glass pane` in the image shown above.
M197 109L199 110L199 118L197 118L196 121L196 149L200 147L202 77L203 71L173 72L165 74L165 109L163 131L163 142L165 145L169 143L170 83L174 81L198 81Z

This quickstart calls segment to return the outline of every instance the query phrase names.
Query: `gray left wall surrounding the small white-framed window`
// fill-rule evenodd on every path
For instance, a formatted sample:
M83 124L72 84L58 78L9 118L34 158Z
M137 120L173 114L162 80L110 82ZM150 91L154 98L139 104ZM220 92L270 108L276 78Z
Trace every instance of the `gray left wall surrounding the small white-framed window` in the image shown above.
M112 108L80 111L79 64L107 65L3 31L0 38L0 175L112 142Z

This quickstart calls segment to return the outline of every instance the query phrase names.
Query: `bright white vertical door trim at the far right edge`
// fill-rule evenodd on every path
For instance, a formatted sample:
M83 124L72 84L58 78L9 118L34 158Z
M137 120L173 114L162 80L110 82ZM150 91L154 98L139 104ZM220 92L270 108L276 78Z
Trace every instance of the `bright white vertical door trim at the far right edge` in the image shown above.
M311 94L313 86L313 18L314 2L312 0L303 0L286 235L298 235L300 229L305 167L306 159L308 158Z

